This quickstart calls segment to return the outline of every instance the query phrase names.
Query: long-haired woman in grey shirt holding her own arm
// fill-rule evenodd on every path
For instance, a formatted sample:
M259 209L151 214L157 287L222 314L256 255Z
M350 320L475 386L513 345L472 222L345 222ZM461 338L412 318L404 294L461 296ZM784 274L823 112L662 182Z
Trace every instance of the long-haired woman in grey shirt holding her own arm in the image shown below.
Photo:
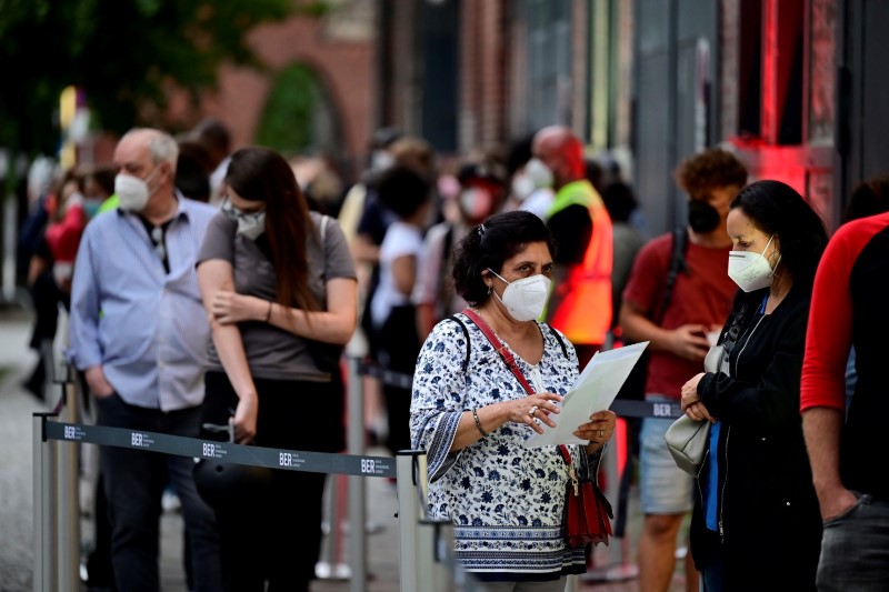
M227 440L210 428L231 421L239 444L340 452L344 387L336 352L358 317L346 238L336 220L309 211L292 169L272 150L234 152L224 192L197 263L212 330L201 437ZM226 590L258 592L268 582L308 592L314 579L327 475L271 473L196 466L198 491L214 503ZM248 482L213 482L232 475Z

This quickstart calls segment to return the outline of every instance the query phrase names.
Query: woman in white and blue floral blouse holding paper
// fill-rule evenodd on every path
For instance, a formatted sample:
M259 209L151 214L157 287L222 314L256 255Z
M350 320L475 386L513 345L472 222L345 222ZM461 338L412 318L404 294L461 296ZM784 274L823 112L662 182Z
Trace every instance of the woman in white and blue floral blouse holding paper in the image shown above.
M539 323L550 289L553 239L535 214L490 218L455 253L457 292L506 345L532 387L528 394L466 313L439 322L423 343L413 377L410 430L426 450L429 512L455 524L455 554L491 590L562 591L586 571L583 546L562 535L568 466L559 448L523 442L551 415L578 377L577 354ZM569 445L579 474L598 469L615 413L599 411Z

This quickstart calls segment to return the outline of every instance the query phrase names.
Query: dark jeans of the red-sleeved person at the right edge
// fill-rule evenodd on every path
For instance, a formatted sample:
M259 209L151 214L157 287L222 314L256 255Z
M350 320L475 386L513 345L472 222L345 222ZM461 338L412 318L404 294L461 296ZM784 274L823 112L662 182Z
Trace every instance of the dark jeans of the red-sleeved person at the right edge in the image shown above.
M889 501L863 494L848 512L825 522L816 583L819 592L889 588Z

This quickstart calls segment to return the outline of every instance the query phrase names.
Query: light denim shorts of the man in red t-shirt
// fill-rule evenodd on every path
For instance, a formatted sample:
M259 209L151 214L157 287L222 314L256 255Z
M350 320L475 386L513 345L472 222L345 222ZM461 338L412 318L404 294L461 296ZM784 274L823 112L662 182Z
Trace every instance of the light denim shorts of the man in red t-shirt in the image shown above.
M647 395L649 402L675 399ZM695 478L676 465L663 434L675 419L645 418L639 435L639 496L646 514L685 514L695 505Z

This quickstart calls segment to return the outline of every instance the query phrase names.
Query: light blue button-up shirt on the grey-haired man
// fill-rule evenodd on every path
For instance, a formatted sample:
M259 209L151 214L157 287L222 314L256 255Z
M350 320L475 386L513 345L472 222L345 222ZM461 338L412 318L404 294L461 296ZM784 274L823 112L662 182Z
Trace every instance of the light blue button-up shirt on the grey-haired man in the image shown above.
M123 401L162 411L201 404L210 340L194 261L218 210L178 198L169 273L142 221L112 210L87 224L71 287L69 360L101 364Z

